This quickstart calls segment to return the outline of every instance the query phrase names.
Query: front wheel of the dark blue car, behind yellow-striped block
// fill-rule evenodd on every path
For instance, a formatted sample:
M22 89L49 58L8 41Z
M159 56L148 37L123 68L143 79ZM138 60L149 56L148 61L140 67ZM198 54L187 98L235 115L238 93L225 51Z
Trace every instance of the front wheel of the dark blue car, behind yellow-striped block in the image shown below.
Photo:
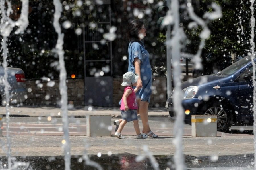
M208 108L204 115L217 115L217 131L228 132L231 126L228 111L220 105Z

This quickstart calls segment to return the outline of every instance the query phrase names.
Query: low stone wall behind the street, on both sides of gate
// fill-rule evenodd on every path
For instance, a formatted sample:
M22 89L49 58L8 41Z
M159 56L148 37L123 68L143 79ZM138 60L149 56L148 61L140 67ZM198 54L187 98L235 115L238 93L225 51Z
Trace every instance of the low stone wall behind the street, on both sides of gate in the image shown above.
M119 107L123 95L122 78L113 78L113 106ZM28 99L26 105L58 105L61 99L59 93L59 80L27 79L26 88ZM84 80L67 79L68 103L74 106L83 106ZM164 106L166 102L166 78L156 77L152 82L152 95L150 107Z

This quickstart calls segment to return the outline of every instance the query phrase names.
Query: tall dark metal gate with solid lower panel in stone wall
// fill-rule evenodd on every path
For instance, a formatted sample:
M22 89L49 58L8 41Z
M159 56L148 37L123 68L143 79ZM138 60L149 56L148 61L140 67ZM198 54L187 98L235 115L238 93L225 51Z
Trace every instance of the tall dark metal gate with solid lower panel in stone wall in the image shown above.
M83 27L84 105L112 106L112 42L103 39L111 27L110 0L94 9L94 21Z

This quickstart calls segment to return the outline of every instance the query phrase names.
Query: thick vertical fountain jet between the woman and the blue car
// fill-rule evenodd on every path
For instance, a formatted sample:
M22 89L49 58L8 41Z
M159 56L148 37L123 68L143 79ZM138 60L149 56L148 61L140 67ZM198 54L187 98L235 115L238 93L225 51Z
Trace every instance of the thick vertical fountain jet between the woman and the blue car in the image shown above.
M174 79L174 98L177 100L174 100L174 111L177 114L177 119L174 124L174 135L175 139L173 140L173 143L176 147L176 152L174 154L174 162L175 167L177 170L184 170L186 169L185 166L185 160L183 156L183 146L182 146L182 136L183 136L183 127L184 127L184 109L181 105L181 69L179 64L180 61L180 50L181 50L181 39L184 37L183 29L179 26L179 1L178 0L172 0L171 1L171 11L173 13L174 18L174 27L172 30L172 39L170 42L166 42L166 45L170 46L171 49L171 56L173 56L173 79Z

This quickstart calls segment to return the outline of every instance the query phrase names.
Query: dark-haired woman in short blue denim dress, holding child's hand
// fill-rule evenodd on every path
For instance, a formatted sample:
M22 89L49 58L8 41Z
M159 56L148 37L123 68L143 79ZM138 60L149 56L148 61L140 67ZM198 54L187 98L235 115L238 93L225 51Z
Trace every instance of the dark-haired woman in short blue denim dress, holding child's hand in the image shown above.
M149 53L141 41L146 36L146 28L142 21L133 20L128 25L128 38L131 40L128 46L129 65L128 71L139 75L137 87L140 89L136 93L138 104L137 113L141 116L143 124L142 134L149 137L158 137L155 135L148 124L148 105L150 102L152 72L149 61ZM142 87L142 88L141 88Z

